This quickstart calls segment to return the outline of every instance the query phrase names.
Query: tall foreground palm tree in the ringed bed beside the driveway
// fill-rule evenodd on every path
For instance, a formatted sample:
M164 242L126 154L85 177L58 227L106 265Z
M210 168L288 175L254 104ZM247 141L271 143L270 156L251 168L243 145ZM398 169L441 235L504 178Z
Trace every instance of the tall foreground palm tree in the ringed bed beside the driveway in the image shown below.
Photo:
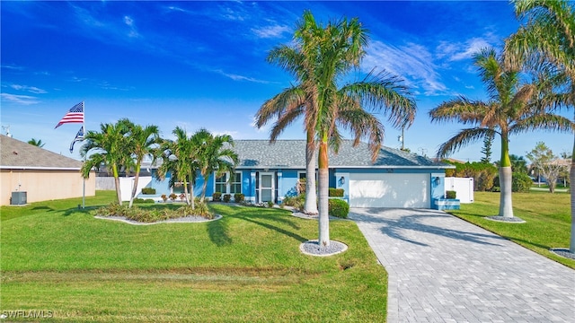
M276 126L288 125L295 120L292 117L295 114L304 116L308 147L310 142L317 141L319 144L318 241L320 245L328 246L328 150L332 146L337 153L341 144L338 127L355 135L354 144L359 144L361 138L367 136L371 157L375 161L383 142L384 127L364 107L389 110L389 120L400 127L411 124L415 116L415 102L409 98L410 93L399 84L399 80L387 74L368 74L362 81L339 86L338 82L358 67L365 55L363 48L367 45L367 31L357 19L341 19L322 27L315 22L312 13L305 12L295 40L296 47L291 50L293 59L284 57L280 62L284 68L297 71L294 74L299 84L294 87L297 89L296 95L290 100L296 99L299 104L286 109L286 113L279 116ZM289 54L287 46L282 48Z

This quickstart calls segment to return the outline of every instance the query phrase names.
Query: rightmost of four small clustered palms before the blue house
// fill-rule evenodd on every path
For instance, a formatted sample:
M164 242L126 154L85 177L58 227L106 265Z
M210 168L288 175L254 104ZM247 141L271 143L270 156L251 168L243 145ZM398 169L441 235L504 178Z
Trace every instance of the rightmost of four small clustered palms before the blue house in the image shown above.
M219 178L229 172L233 176L238 156L230 146L234 146L231 135L212 135L206 129L200 129L192 135L191 141L197 149L196 160L199 173L204 179L200 200L206 198L209 175Z

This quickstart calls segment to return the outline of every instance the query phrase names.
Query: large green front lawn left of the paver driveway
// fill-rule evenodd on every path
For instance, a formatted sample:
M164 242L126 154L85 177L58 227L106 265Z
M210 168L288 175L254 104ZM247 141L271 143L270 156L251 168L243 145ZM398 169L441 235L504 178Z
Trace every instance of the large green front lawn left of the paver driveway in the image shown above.
M222 220L134 226L93 218L114 192L0 208L0 312L52 321L385 321L386 273L355 223L349 249L299 252L317 222L268 208L211 205ZM22 319L24 318L11 318Z

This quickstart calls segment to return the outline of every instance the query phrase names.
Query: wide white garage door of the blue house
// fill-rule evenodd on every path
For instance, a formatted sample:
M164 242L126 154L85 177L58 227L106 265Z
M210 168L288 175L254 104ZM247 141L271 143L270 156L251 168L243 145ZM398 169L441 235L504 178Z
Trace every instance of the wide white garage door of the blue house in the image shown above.
M429 174L349 174L351 207L423 207L429 201Z

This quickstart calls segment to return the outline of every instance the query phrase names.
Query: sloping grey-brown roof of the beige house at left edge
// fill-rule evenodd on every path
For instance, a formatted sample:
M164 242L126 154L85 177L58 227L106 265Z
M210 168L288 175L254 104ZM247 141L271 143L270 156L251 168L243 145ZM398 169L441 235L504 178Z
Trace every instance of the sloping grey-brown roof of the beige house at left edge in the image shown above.
M80 170L82 162L0 135L0 169Z

